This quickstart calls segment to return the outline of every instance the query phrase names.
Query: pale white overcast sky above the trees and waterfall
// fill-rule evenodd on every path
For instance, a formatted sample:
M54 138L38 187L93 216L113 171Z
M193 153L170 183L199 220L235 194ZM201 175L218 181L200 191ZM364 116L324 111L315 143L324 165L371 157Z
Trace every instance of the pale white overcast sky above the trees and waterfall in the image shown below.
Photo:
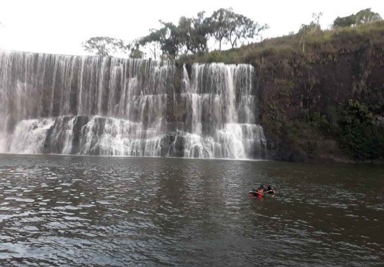
M321 27L337 16L372 8L384 18L383 0L0 0L0 48L52 54L87 55L82 42L109 36L129 42L158 28L159 20L177 23L180 16L206 15L218 8L233 8L270 28L263 38L297 32L310 23L312 13L322 12Z

